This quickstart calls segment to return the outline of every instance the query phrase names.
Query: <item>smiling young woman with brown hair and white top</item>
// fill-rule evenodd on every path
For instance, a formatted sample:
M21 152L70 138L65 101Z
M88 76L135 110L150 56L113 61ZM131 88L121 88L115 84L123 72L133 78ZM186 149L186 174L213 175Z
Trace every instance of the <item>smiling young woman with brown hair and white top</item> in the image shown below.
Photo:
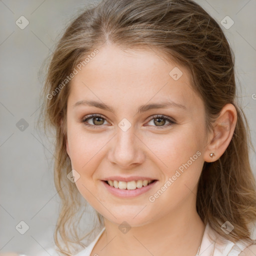
M221 28L191 0L104 0L71 22L42 91L61 253L256 254L233 67ZM75 225L85 202L101 228L88 247Z

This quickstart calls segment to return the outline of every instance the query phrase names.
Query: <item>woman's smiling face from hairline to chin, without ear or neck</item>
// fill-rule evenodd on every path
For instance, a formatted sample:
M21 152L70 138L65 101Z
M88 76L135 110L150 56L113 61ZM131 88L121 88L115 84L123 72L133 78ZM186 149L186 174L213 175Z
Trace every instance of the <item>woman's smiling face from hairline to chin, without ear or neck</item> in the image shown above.
M75 184L96 211L112 222L139 226L195 208L205 113L184 67L154 51L107 45L70 86L66 150L79 177ZM163 102L169 104L156 108ZM156 181L124 190L103 181L110 176Z

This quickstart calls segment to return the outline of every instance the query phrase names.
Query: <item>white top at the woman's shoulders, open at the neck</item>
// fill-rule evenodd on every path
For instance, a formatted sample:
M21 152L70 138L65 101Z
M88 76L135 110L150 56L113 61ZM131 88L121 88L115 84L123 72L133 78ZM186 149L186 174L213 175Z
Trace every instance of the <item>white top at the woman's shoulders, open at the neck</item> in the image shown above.
M105 230L105 227L101 229L99 234L95 237L95 239L85 248L79 251L74 256L90 256L92 249L94 248L96 242L98 241L100 235ZM212 237L213 240L209 237ZM225 239L223 236L219 236L213 230L209 224L207 223L204 229L204 233L202 236L202 241L199 249L199 253L197 251L196 255L199 256L238 256L241 251L243 251L249 243L243 242L243 240L239 240L235 243ZM195 256L196 256L195 255Z

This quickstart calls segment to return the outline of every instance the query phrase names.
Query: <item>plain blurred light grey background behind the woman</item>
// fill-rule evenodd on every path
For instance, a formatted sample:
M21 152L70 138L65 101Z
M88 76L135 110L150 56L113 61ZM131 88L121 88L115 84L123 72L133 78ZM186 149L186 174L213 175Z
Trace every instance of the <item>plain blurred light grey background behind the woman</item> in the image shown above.
M235 53L239 99L256 142L256 24L255 0L196 0L219 23L229 16L234 24L222 25ZM30 255L52 254L59 197L53 183L53 148L36 130L39 92L38 71L53 49L59 33L85 0L0 0L0 251ZM21 16L29 24L20 29ZM228 21L229 22L229 21ZM27 122L21 131L16 125ZM256 175L256 156L250 160ZM15 226L25 221L21 235ZM48 253L46 252L48 250Z

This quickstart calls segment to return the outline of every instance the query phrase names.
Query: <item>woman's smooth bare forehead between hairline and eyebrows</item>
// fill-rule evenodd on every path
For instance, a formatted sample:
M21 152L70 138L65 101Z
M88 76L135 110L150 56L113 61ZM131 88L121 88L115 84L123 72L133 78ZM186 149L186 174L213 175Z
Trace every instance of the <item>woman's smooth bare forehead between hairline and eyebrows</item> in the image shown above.
M185 67L167 62L154 50L123 51L105 45L72 78L68 101L95 99L132 105L171 99L189 107L197 96L190 80Z

